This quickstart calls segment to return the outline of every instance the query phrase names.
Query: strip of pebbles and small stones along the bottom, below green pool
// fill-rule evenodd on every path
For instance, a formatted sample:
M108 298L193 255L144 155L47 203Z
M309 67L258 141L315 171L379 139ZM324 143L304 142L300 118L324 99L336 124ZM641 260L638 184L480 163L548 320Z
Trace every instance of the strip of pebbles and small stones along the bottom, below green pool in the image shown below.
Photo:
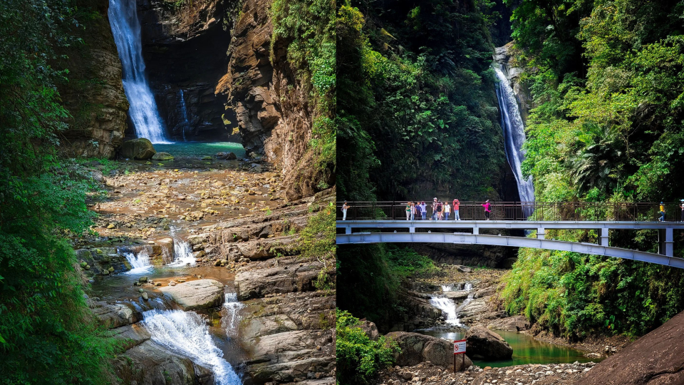
M380 372L376 384L384 385L569 385L581 379L595 364L539 365L527 364L505 368L480 369L470 366L465 371L453 373L443 366L425 362L415 366L395 366Z

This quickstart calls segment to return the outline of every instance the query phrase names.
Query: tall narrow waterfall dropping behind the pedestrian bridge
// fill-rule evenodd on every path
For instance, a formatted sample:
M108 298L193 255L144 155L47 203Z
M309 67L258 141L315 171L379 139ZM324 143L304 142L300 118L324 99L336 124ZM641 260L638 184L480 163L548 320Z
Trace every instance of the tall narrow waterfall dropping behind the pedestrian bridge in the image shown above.
M525 159L525 153L522 150L522 144L525 142L525 126L520 117L518 103L515 100L513 89L501 68L495 66L494 72L497 73L497 78L499 78L499 83L497 83L497 99L499 100L499 109L501 110L506 157L513 169L515 180L518 184L520 200L522 202L534 202L532 175L524 179L522 169L520 168L522 161ZM532 212L527 211L529 210L524 210L525 215L532 214Z

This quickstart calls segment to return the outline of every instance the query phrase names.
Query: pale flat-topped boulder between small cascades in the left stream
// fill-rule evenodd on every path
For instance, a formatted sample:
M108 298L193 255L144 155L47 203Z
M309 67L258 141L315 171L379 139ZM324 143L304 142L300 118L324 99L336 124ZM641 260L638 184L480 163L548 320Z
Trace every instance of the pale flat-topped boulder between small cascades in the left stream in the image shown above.
M223 284L214 279L199 279L160 287L160 290L184 310L209 309L223 303Z

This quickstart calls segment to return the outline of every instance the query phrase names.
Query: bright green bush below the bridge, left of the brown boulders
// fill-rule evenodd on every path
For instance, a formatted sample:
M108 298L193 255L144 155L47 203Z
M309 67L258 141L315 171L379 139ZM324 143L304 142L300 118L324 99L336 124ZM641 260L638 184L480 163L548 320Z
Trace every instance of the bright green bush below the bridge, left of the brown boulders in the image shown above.
M378 369L391 365L393 353L399 349L395 342L383 336L373 341L363 329L355 327L358 324L358 318L337 309L336 374L340 385L373 384Z

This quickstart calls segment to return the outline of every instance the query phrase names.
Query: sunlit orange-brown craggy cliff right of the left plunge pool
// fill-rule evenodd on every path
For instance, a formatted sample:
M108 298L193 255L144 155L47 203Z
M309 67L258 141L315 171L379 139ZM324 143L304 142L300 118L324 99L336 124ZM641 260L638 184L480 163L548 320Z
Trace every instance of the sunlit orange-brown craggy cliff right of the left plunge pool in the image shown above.
M237 114L242 145L261 153L283 173L294 200L314 193L314 171L305 157L311 140L309 93L287 61L286 41L272 47L271 0L246 0L236 19L228 71L216 93ZM332 178L331 180L334 180Z

